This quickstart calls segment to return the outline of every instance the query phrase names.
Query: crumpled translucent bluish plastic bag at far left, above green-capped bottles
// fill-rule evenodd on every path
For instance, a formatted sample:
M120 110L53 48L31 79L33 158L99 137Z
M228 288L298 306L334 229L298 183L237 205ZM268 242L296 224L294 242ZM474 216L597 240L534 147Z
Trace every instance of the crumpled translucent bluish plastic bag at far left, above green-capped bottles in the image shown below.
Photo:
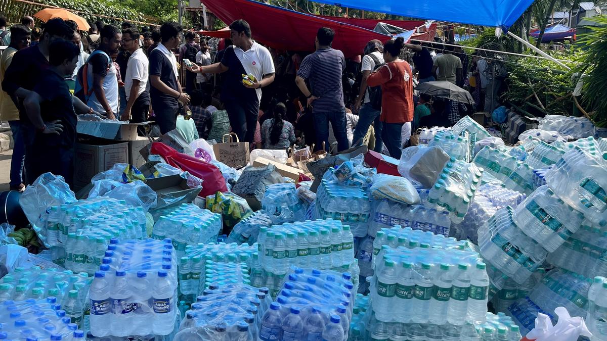
M61 175L44 173L25 187L19 205L33 228L46 228L50 207L76 201L76 195ZM42 240L44 242L44 240Z

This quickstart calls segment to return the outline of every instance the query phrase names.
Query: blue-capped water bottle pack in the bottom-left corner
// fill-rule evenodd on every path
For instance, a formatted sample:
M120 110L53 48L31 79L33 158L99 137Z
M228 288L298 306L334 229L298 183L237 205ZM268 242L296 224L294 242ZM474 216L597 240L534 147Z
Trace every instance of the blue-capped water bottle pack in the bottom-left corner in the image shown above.
M0 340L84 341L56 297L0 302Z

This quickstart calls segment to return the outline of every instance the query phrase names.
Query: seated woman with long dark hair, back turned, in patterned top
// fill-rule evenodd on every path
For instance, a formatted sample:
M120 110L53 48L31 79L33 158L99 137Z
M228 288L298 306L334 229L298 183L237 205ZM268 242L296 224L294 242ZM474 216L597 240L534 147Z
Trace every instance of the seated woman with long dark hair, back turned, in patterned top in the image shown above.
M274 118L265 120L262 124L263 149L287 149L295 142L293 124L284 119L286 116L285 104L276 104Z

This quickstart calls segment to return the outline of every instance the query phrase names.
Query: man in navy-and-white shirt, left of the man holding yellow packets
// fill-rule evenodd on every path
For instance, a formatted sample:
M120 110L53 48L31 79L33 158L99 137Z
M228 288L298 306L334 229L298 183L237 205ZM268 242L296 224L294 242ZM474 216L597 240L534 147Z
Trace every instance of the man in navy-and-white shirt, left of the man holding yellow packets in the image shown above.
M161 133L175 129L179 103L187 105L189 96L181 91L177 78L177 58L172 49L181 41L181 26L166 22L160 27L162 42L149 55L150 97L152 110Z

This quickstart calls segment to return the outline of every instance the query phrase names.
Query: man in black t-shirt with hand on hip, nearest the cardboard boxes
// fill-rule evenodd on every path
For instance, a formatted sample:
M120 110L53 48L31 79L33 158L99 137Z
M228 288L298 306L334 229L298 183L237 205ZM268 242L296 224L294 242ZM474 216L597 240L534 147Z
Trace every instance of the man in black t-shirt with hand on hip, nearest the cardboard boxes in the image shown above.
M25 112L32 122L33 137L25 145L25 173L32 184L40 175L52 172L72 184L74 146L76 144L75 111L97 113L72 96L64 77L72 75L80 49L70 41L52 42L49 47L50 67L25 98Z

